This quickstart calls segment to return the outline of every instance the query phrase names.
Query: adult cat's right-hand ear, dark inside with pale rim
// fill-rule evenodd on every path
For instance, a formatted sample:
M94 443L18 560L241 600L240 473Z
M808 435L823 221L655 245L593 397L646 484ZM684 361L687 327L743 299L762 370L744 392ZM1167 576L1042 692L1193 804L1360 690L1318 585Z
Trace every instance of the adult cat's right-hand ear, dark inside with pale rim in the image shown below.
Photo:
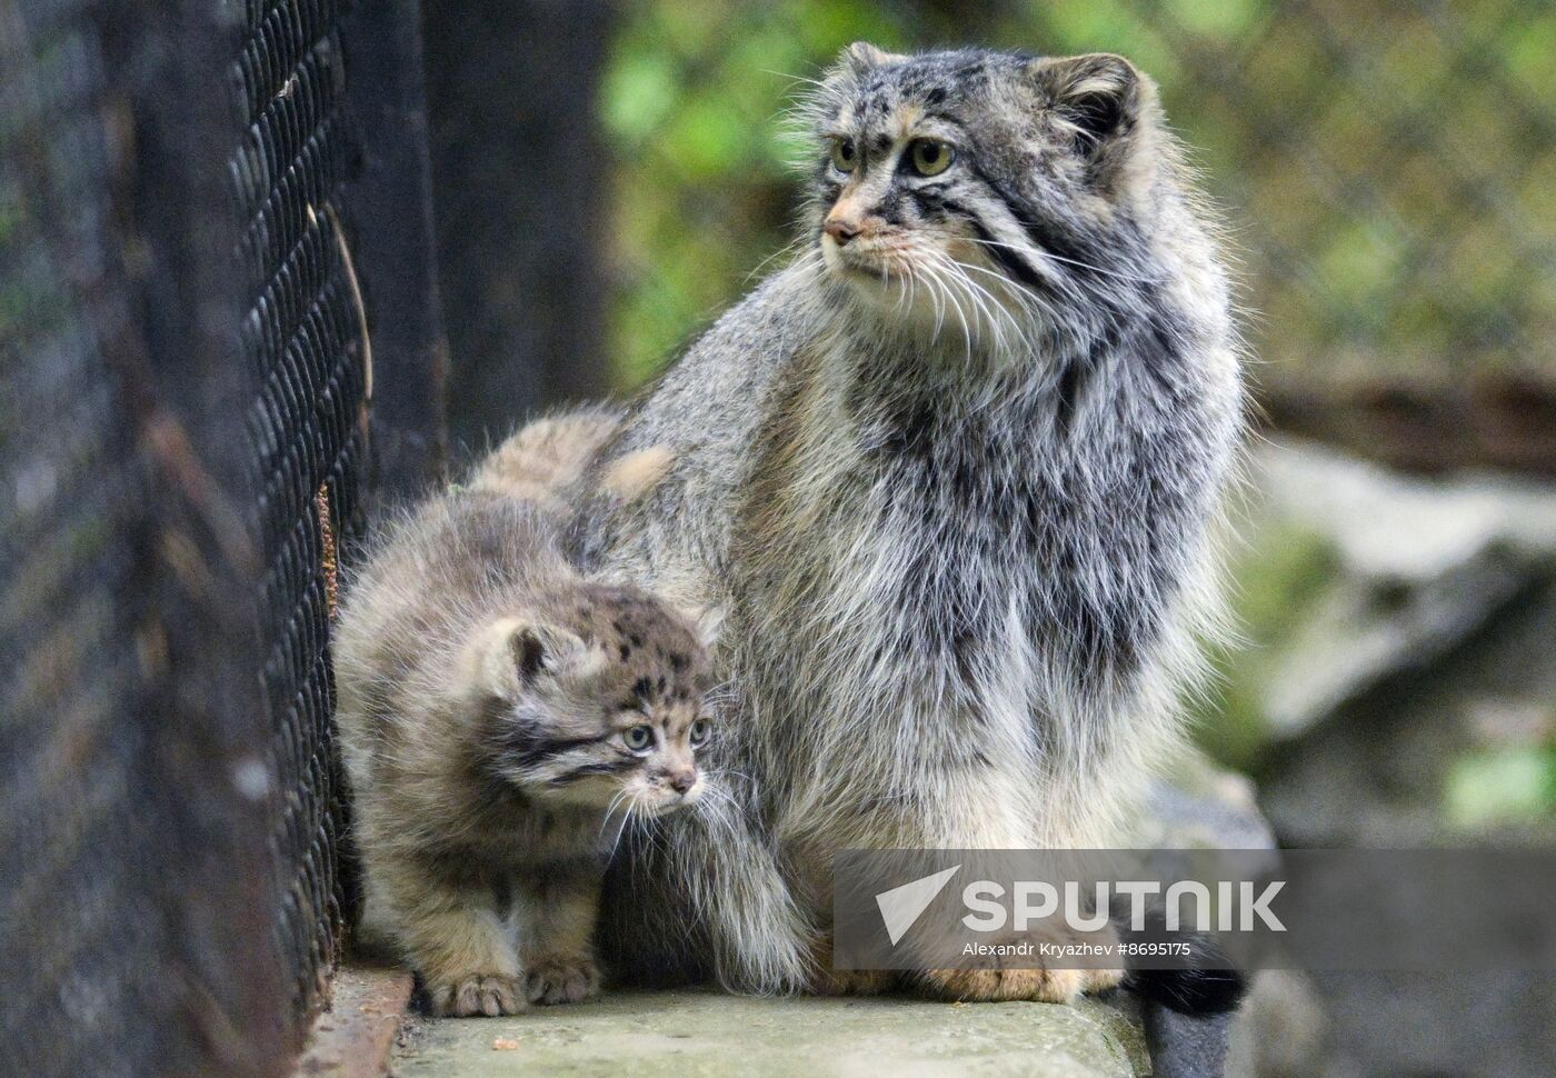
M1027 76L1074 132L1075 149L1094 162L1116 157L1156 100L1151 81L1111 53L1036 59Z

